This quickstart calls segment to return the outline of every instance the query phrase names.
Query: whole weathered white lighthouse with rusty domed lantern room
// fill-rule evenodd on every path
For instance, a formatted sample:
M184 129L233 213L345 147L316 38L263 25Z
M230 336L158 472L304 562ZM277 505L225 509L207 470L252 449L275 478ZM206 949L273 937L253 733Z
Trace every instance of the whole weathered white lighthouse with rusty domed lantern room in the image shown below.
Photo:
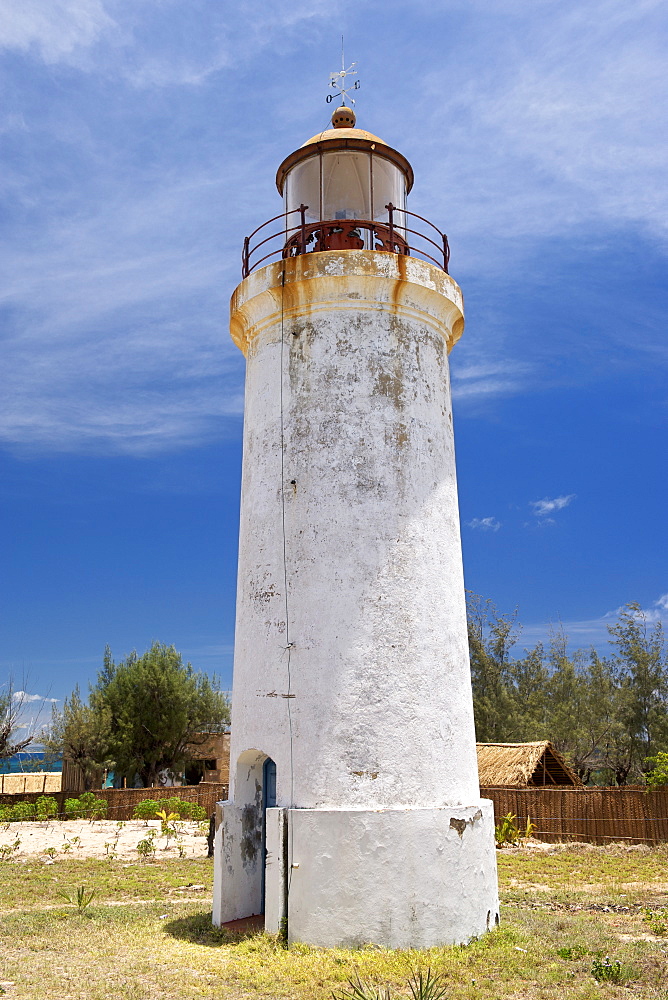
M408 160L332 127L246 239L229 799L213 920L325 947L498 922L480 798L448 354L464 327Z

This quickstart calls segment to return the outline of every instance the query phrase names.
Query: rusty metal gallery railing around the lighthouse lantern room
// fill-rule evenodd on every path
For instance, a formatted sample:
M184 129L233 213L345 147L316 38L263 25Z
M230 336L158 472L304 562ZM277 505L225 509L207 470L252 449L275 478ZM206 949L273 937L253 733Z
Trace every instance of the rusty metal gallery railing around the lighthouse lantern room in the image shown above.
M363 249L419 257L440 267L447 274L450 247L445 233L415 212L396 208L392 203L385 208L387 220L382 222L371 219L321 219L307 222L308 205L300 205L299 208L275 215L245 238L241 275L246 278L251 271L277 258L298 257L300 254L326 250ZM414 219L417 222L413 222ZM266 230L279 220L281 228L267 234ZM294 225L290 224L293 221ZM424 224L421 228L413 228L420 222ZM424 231L424 227L429 229ZM259 238L253 242L256 237Z

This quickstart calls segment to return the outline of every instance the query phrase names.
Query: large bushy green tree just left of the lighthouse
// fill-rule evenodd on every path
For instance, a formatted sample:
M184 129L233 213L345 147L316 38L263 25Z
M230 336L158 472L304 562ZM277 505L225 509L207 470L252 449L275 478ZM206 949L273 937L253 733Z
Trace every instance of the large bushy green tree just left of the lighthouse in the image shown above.
M179 769L186 748L203 743L230 718L226 695L205 674L184 664L174 646L155 642L142 656L114 663L107 648L91 691L91 708L108 711L114 770L154 785L163 770Z

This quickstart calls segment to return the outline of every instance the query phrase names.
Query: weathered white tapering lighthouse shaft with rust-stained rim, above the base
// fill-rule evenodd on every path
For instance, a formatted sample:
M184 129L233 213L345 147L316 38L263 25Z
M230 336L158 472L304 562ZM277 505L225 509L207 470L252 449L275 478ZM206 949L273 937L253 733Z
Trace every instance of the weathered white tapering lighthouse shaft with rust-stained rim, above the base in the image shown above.
M253 273L232 308L248 356L232 762L269 754L278 805L470 802L461 293L419 260L330 252Z

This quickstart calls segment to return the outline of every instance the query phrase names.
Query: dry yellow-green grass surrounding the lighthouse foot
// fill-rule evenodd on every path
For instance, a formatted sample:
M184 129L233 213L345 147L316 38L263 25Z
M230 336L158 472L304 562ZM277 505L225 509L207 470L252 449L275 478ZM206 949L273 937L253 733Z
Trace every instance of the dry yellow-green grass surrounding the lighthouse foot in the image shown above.
M21 1000L324 1000L359 975L400 997L411 970L431 967L453 1000L668 1000L668 934L652 933L668 918L668 850L497 857L500 928L427 952L286 950L264 934L232 937L211 926L206 858L4 862L0 987ZM81 885L95 898L79 914L59 892ZM597 980L592 970L605 968L614 977Z

